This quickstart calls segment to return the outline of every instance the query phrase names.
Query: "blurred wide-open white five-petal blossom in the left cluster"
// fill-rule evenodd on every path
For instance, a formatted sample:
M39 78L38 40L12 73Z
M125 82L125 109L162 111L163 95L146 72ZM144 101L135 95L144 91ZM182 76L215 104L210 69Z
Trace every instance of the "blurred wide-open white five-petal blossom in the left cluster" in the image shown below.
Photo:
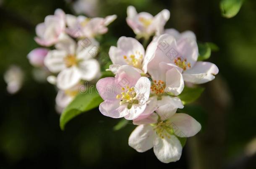
M57 87L66 90L80 80L91 81L100 73L99 63L93 57L98 52L98 42L93 39L79 40L78 43L63 34L44 59L44 64L57 75Z

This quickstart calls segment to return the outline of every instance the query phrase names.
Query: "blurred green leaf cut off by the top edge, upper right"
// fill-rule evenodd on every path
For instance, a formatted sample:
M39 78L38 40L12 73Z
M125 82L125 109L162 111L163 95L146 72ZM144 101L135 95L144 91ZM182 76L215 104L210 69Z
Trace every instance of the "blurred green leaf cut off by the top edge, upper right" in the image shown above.
M222 16L225 18L234 17L240 10L243 0L221 0L219 7Z

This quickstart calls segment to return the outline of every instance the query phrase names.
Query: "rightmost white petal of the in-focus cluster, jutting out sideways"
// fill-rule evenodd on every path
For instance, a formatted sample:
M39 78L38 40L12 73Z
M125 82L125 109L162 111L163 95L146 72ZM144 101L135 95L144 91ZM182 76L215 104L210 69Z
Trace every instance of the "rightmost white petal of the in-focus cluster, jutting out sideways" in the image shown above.
M219 73L218 67L210 62L196 62L196 64L187 71L184 71L184 81L201 84L212 81Z

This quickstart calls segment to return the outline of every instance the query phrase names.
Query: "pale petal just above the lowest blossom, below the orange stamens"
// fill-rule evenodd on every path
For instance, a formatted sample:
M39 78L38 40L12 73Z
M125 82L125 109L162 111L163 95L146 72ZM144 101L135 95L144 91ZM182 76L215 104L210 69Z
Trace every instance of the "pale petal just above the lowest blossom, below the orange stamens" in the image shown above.
M161 117L161 120L169 119L173 116L178 108L183 108L183 104L178 97L162 96L162 100L157 101L158 108L157 114Z

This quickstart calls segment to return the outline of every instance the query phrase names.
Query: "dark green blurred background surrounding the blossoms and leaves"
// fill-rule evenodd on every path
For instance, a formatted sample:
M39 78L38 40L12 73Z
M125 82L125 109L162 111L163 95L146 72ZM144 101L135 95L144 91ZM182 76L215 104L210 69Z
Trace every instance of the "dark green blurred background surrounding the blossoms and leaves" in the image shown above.
M0 0L0 75L13 64L25 74L21 91L10 95L0 78L0 169L86 167L168 167L172 169L256 168L256 1L246 0L234 18L222 18L218 0L99 0L97 15L117 14L105 37L134 37L125 22L126 8L156 15L170 10L165 28L193 30L200 42L213 42L219 51L209 61L219 67L204 84L201 98L183 111L202 124L189 138L180 161L163 164L149 150L128 146L135 126L113 131L118 119L97 109L76 117L61 131L55 111L55 88L34 80L26 55L38 45L35 26L56 8L73 13L72 1ZM114 43L115 44L115 43ZM106 51L107 52L107 51Z

